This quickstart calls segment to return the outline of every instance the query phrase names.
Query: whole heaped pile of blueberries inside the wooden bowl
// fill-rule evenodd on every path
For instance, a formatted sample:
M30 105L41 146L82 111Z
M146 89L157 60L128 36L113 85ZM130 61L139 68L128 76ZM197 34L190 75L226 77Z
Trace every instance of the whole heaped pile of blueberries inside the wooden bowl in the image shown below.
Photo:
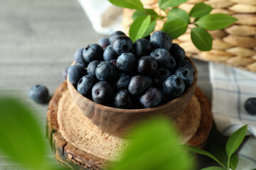
M194 79L184 50L163 31L134 43L121 31L76 50L69 81L90 100L116 108L152 108L181 96Z

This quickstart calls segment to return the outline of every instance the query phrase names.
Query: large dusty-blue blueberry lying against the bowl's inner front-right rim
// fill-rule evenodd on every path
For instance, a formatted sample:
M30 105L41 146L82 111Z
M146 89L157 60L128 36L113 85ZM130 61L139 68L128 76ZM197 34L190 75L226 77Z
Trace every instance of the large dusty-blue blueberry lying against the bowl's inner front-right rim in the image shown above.
M171 75L168 77L163 84L164 94L170 98L177 98L181 96L185 90L185 84L181 77Z

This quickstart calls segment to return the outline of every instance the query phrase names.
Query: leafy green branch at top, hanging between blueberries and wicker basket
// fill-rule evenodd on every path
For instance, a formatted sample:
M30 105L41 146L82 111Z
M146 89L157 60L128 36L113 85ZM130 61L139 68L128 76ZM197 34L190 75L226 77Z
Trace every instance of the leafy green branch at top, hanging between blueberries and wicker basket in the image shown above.
M132 15L133 23L129 28L129 36L134 42L154 31L156 21L165 21L161 30L175 39L191 28L191 40L201 51L209 51L213 46L213 38L207 30L220 30L237 21L233 16L223 13L210 14L213 9L203 3L196 4L190 13L177 6L188 0L159 0L159 8L166 16L157 14L153 9L144 8L139 0L109 0L115 6L136 9ZM170 10L171 8L171 10ZM191 22L193 21L193 22Z

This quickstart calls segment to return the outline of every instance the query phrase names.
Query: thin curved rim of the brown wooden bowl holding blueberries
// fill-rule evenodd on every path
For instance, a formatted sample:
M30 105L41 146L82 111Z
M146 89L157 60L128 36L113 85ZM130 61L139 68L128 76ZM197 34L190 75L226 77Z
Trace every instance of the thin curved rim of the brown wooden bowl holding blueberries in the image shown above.
M174 100L169 101L168 103L164 103L160 106L156 106L153 108L124 109L124 108L112 108L110 106L104 106L100 103L96 103L95 101L91 101L89 98L86 98L85 96L82 96L82 94L80 94L78 92L78 90L75 89L75 86L70 83L69 78L67 76L68 89L71 88L73 91L75 91L75 93L77 93L78 96L82 97L83 100L85 100L85 102L92 103L92 105L100 106L102 109L105 109L105 110L122 112L122 113L137 113L138 111L139 112L157 111L157 110L161 110L161 108L166 108L166 107L170 106L172 103L176 103L176 101L181 100L181 98L184 98L186 96L186 94L188 94L188 92L191 91L191 89L193 89L193 86L196 86L197 80L198 80L198 70L196 68L196 64L194 64L194 62L189 57L185 57L184 60L189 60L193 64L193 67L195 69L193 83L191 84L191 86L188 87L188 89L186 89L185 93L181 94L181 96L178 96L178 98L175 98ZM75 62L73 62L73 64L75 64ZM73 64L71 64L71 65L73 65ZM71 96L73 96L73 95L71 95Z

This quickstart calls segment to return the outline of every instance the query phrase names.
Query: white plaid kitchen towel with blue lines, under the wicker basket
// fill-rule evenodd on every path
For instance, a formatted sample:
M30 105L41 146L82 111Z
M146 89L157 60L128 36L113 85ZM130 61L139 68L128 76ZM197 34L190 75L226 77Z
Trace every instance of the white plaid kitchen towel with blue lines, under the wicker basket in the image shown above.
M212 112L215 124L223 135L231 135L243 125L248 125L251 135L238 153L237 169L256 168L256 115L245 111L247 98L256 97L256 74L209 63L210 82L213 86Z

